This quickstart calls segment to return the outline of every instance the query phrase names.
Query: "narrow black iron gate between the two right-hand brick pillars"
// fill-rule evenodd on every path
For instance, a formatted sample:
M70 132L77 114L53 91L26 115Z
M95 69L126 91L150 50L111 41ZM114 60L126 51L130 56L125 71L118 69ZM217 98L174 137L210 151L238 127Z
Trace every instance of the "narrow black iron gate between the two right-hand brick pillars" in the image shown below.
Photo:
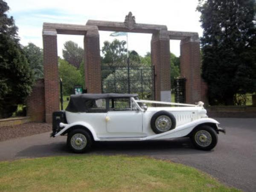
M186 79L179 78L174 80L174 93L176 103L186 103Z

